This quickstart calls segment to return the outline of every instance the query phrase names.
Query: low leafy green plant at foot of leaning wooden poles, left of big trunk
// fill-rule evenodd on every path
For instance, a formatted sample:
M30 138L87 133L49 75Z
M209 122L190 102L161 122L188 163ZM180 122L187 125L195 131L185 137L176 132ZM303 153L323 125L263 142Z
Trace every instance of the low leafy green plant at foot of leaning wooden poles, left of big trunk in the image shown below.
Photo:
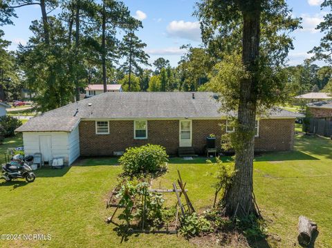
M212 231L211 223L206 218L199 216L197 213L187 214L181 218L180 232L186 238L199 236L201 233Z

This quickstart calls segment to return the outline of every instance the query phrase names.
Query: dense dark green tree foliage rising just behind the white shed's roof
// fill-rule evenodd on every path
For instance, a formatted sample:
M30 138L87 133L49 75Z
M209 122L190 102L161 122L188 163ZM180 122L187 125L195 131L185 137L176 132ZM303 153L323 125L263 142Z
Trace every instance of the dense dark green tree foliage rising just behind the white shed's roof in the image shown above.
M41 42L44 37L43 23L34 21L30 26L34 37L27 46L19 46L19 61L26 73L26 84L37 92L39 111L49 111L73 100L74 87L68 63L72 53L66 49L67 33L62 23L49 18L50 44Z

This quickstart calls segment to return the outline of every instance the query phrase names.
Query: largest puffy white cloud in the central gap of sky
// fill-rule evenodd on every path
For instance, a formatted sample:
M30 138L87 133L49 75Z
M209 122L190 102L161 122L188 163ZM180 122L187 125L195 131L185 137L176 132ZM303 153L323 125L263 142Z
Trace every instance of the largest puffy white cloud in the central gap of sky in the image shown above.
M169 37L201 41L201 28L199 21L172 21L167 26Z

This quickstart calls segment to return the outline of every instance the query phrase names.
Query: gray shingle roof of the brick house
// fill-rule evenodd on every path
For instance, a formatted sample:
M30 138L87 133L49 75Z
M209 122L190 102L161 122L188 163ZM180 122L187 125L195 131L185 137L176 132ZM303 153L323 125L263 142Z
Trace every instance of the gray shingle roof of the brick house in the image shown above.
M213 95L196 92L193 99L192 93L184 92L103 93L34 117L16 131L71 131L80 119L213 119L226 116L227 113L219 111L219 103ZM268 118L301 116L275 108L270 110Z

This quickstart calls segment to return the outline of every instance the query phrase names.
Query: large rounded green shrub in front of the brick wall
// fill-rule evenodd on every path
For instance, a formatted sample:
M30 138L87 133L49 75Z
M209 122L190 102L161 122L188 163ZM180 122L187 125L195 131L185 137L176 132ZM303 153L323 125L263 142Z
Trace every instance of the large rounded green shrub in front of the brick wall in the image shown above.
M165 167L167 161L165 148L154 144L131 147L119 159L124 173L128 175L156 173Z

